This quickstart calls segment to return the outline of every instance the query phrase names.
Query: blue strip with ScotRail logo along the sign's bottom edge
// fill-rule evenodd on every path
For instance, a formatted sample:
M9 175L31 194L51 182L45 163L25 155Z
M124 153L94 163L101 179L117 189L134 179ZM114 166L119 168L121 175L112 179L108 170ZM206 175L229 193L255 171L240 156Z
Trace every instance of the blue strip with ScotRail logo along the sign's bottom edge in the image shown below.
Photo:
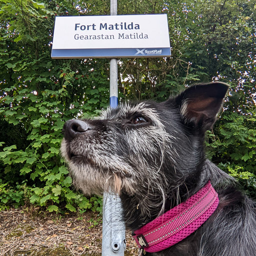
M170 48L52 49L52 58L170 56Z

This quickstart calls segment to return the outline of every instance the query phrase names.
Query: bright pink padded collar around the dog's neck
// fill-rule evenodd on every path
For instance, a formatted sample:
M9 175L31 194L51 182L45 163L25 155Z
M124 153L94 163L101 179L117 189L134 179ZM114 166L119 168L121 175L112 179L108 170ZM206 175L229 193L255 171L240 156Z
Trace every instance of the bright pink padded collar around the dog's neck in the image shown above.
M133 238L138 247L144 248L147 252L166 249L201 226L217 205L218 194L208 181L186 201L135 230Z

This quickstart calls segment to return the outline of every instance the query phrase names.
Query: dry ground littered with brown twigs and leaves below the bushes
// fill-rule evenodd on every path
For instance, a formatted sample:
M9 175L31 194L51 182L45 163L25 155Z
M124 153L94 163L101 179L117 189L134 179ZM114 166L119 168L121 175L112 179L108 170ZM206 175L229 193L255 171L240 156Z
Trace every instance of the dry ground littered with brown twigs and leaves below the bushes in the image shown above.
M100 256L102 217L91 211L56 214L39 208L0 211L0 256ZM137 255L126 231L125 256Z

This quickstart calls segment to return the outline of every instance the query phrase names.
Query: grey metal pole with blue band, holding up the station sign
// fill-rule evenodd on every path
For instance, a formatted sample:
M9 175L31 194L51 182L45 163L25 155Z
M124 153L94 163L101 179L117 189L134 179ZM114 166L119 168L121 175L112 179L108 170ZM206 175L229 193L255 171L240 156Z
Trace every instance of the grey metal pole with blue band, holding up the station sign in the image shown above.
M117 0L110 0L110 15L117 15ZM117 59L110 59L110 107L118 104ZM103 194L102 256L123 256L125 250L125 226L122 221L122 206L118 195Z

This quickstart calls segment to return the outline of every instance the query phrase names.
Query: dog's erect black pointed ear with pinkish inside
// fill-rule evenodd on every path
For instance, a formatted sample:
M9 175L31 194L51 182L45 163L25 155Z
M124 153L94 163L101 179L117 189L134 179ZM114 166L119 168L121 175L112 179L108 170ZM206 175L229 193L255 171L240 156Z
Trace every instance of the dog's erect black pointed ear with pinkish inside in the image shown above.
M206 131L216 120L228 85L211 82L193 85L176 98L182 120L189 126Z

